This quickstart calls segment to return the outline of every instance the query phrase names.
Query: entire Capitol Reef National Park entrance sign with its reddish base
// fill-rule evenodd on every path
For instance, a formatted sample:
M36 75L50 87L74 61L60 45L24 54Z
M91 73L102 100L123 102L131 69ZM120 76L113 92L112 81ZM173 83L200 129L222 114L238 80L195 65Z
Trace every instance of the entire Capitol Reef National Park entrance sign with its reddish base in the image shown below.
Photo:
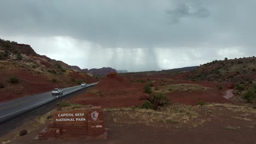
M53 122L38 135L38 140L106 139L101 107L53 112Z

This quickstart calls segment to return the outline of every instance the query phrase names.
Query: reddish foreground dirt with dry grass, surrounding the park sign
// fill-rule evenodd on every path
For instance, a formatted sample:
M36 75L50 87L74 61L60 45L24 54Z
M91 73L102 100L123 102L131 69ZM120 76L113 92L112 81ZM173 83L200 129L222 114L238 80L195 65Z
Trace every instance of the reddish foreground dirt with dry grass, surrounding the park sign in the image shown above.
M11 143L255 143L256 109L230 104L204 106L172 105L158 111L105 109L107 140L34 141L45 127L46 116L28 122L21 129L38 124ZM19 131L2 137L8 142ZM10 142L10 140L9 140Z

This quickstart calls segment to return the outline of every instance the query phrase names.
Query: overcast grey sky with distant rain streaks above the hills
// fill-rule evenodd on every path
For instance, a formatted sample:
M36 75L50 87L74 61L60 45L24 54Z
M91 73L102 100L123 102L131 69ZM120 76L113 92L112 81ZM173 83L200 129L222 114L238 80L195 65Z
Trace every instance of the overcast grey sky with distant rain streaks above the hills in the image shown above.
M0 38L80 68L147 71L256 55L254 0L1 0Z

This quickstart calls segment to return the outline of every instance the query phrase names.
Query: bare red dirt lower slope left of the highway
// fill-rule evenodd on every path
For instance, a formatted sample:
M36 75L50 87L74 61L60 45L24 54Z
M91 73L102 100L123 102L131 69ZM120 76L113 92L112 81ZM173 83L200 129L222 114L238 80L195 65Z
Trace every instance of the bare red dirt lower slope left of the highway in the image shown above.
M9 83L9 76L17 76L19 78L18 83ZM86 83L96 82L93 77L89 75L81 76L77 73L73 73L74 79L83 79ZM65 88L77 85L77 83L53 83L46 81L47 77L37 74L31 74L29 71L24 70L0 70L0 82L3 82L5 88L0 88L0 101L7 101L24 97L27 95L49 92L55 87ZM14 91L15 89L15 91Z

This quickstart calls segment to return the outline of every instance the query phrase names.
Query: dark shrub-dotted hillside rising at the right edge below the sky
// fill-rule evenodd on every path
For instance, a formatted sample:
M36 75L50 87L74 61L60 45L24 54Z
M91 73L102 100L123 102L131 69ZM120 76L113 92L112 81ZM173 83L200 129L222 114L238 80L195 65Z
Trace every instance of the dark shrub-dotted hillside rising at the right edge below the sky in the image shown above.
M253 81L256 78L256 58L226 59L202 64L188 76L193 81Z

